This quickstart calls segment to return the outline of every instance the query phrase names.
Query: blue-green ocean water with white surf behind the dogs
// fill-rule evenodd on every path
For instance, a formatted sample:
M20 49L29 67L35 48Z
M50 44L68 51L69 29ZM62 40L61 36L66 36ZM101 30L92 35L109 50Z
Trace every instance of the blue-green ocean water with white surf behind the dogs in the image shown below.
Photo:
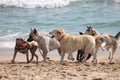
M64 28L70 34L93 26L98 32L120 31L120 0L0 0L0 48L14 48L31 28L48 34Z

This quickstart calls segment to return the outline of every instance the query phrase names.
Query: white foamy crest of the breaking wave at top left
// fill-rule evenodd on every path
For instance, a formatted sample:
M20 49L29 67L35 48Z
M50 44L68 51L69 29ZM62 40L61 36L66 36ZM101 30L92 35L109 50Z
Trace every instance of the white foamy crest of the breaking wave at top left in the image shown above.
M0 0L0 5L23 8L54 8L67 6L73 1L76 0Z

